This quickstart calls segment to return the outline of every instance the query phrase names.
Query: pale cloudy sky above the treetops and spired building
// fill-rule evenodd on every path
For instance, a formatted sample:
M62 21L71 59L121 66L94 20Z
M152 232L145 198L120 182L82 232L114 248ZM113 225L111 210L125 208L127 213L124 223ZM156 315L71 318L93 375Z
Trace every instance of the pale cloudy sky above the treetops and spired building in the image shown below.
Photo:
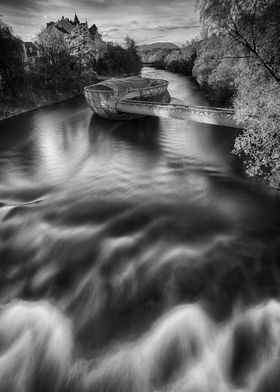
M24 41L61 16L95 23L104 41L184 44L200 33L196 0L0 0L0 17Z

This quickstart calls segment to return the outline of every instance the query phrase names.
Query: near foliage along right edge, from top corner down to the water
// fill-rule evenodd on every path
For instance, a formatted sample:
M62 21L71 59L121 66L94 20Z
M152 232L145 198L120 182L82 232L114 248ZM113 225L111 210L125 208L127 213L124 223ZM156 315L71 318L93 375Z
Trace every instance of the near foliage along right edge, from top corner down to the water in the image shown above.
M234 107L245 129L234 153L244 158L249 175L279 188L280 2L198 0L198 7L204 28L219 32L225 54L237 59Z

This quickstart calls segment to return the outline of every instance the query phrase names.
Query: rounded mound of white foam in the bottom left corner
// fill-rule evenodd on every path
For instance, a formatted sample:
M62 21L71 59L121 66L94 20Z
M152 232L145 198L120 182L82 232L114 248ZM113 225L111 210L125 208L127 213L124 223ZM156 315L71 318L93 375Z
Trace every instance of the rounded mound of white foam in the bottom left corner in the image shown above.
M0 390L58 391L72 355L69 320L46 301L14 301L0 315Z

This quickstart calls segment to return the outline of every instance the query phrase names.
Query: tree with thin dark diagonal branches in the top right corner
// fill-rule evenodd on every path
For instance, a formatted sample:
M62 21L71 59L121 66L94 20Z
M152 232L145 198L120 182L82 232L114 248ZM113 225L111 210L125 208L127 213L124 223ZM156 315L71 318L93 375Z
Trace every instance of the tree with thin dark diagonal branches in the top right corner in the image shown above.
M205 29L231 37L280 82L279 0L197 0L197 6Z

